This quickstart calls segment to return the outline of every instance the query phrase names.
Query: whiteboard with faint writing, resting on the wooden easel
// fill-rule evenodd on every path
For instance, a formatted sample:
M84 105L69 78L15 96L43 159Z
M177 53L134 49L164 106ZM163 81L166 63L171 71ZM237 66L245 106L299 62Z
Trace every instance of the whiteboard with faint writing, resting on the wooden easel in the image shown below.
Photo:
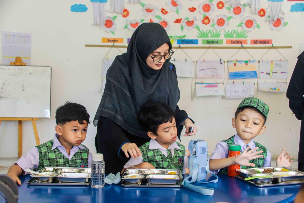
M50 118L50 66L0 65L0 117Z

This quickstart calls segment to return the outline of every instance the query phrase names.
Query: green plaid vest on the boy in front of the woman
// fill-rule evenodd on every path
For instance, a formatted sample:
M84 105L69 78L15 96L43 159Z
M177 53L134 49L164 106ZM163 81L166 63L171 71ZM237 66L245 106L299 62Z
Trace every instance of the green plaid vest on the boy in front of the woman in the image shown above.
M166 157L159 149L149 149L150 142L143 144L139 147L141 154L143 155L143 162L151 163L156 169L179 169L183 170L185 147L176 142L181 149L174 149L174 156L170 150Z

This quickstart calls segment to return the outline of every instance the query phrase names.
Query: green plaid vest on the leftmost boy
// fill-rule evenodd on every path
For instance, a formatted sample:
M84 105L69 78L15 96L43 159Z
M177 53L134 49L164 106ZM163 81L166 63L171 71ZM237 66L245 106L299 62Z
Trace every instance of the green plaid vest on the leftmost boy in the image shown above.
M89 150L86 146L85 149L79 149L74 156L69 160L60 152L57 147L52 150L53 139L36 146L39 152L39 165L35 171L44 167L81 167L88 166Z

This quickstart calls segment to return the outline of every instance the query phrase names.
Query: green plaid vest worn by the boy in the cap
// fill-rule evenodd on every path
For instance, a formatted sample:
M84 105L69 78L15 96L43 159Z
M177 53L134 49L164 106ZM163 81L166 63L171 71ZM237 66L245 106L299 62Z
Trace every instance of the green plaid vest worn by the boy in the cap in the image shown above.
M228 139L226 139L226 140L223 140L222 142L226 142L227 145L235 145L234 136L235 136L235 135L233 135L232 137L230 137L230 138L228 138ZM260 143L254 142L254 144L255 144L255 145L257 146L257 148L258 148L257 151L263 150L262 154L263 154L264 156L249 161L250 163L254 163L254 164L255 164L255 167L251 167L251 166L242 166L242 169L248 169L248 168L261 168L261 167L264 166L265 158L266 158L266 156L267 156L267 149L266 149L266 147L264 147L264 146L261 145ZM250 150L250 149L249 149L249 150ZM228 157L228 154L226 155L226 157ZM218 174L227 174L227 173L228 173L228 167L222 168L221 170L219 170L219 173L218 173Z

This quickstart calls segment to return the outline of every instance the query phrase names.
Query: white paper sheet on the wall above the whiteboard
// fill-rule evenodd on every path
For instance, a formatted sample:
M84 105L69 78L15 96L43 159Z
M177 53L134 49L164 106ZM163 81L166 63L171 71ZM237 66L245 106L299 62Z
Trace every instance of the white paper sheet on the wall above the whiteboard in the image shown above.
M10 65L17 56L21 57L26 65L31 65L32 34L1 32L2 35L2 61L3 65Z

